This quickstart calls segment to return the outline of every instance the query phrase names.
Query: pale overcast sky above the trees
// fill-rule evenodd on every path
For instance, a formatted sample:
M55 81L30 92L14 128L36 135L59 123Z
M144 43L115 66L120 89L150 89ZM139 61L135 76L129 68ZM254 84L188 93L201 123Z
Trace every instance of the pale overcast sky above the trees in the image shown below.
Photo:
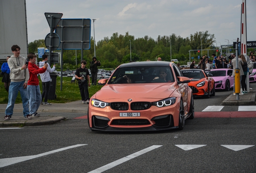
M217 45L240 37L242 0L26 0L28 40L45 39L50 32L44 13L95 21L96 42L113 33L135 38L176 34L183 38L206 30ZM246 0L247 40L256 40L256 0ZM93 21L91 23L93 36ZM220 42L220 43L219 43ZM216 45L216 43L215 43Z

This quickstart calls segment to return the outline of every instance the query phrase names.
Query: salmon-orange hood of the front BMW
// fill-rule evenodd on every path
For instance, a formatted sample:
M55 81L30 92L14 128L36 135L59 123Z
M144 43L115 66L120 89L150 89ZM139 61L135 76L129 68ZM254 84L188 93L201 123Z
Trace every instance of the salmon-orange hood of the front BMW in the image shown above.
M109 84L101 88L95 99L113 101L153 101L168 98L175 91L175 83Z

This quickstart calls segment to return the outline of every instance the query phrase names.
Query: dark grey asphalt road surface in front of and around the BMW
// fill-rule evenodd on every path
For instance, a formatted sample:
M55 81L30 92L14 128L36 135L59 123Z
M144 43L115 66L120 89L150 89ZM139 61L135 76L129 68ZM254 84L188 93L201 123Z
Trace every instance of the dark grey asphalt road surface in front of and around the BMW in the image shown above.
M196 98L195 111L221 105L231 93L217 92L210 99ZM224 107L213 114L225 111L237 111L237 107ZM103 133L90 131L87 119L73 119L83 113L54 114L68 120L23 129L0 129L1 173L254 173L256 170L256 118L194 118L186 120L182 131ZM74 146L78 144L87 145ZM55 151L69 146L74 148ZM242 149L234 151L239 147ZM47 153L50 151L55 153ZM24 161L1 167L17 160L13 157Z

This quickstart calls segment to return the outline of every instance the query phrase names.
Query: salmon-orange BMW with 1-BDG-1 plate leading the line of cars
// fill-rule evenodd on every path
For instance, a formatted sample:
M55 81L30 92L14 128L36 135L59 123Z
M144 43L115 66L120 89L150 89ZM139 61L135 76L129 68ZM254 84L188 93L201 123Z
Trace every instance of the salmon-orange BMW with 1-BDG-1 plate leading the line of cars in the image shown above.
M194 99L172 62L145 61L120 65L90 99L92 131L158 131L183 129L194 118Z

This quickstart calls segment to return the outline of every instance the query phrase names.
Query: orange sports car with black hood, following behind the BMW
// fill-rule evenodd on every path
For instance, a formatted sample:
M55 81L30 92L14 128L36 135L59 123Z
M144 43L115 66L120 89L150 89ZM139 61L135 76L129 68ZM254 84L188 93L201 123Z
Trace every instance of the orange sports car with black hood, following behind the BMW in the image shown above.
M212 74L206 74L204 70L200 69L186 69L181 70L183 76L190 78L191 82L188 84L193 91L194 96L202 96L209 98L215 96L215 84Z

